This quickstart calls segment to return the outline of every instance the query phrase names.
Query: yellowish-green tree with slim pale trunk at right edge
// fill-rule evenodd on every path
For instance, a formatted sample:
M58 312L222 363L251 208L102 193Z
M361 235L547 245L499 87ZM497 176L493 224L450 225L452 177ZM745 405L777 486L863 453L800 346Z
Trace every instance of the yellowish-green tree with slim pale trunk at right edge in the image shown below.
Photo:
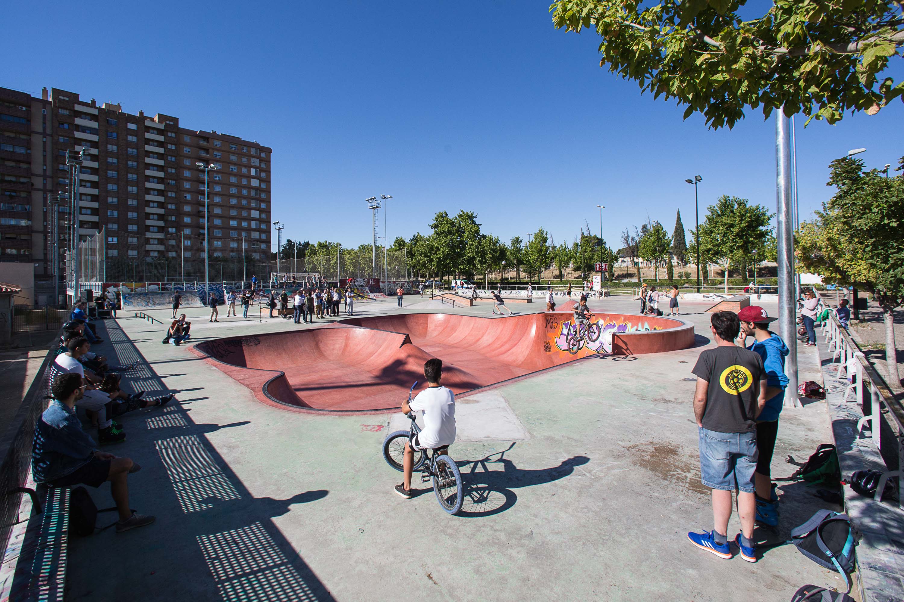
M899 388L894 310L904 303L904 176L863 171L852 157L830 164L837 192L796 233L800 266L824 280L871 292L885 321L889 384ZM899 170L904 168L904 157Z

